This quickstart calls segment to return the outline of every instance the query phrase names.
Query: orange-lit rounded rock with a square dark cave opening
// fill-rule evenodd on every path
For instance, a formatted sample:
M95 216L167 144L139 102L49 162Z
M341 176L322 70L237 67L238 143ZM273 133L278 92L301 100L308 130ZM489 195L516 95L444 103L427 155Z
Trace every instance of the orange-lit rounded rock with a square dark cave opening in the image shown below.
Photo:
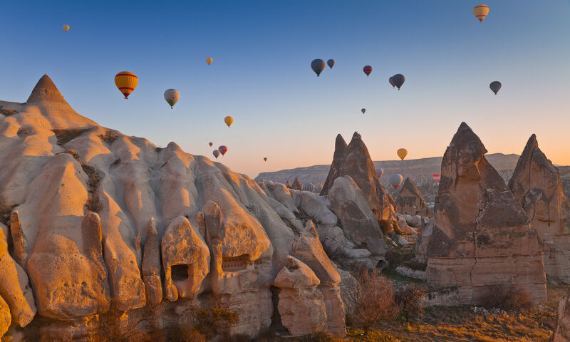
M209 272L209 249L186 217L172 219L162 236L162 266L169 301L197 296Z

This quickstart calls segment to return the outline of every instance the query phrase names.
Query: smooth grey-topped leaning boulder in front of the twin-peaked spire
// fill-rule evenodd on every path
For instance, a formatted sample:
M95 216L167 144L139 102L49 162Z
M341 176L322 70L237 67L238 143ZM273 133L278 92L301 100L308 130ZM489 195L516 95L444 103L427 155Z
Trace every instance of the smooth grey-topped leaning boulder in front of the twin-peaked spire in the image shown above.
M356 245L371 252L374 264L388 251L370 205L350 176L335 180L328 194L328 207L336 214L344 234Z

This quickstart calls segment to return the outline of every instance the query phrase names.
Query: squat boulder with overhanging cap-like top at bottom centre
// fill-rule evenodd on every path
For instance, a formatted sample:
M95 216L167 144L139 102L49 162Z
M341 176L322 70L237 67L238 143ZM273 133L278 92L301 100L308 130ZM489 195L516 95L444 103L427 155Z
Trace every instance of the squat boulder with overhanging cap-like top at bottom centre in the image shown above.
M274 286L280 289L277 309L281 323L292 336L309 335L326 327L323 294L317 289L320 281L309 266L294 257L277 274Z

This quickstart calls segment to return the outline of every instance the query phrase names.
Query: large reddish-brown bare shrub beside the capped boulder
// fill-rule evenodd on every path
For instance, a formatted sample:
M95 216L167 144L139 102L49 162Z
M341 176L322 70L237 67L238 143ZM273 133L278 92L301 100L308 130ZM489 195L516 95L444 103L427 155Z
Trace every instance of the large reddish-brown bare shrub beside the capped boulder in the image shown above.
M356 284L348 291L346 319L367 334L380 321L393 321L400 312L395 301L392 282L381 275L378 269L357 271Z

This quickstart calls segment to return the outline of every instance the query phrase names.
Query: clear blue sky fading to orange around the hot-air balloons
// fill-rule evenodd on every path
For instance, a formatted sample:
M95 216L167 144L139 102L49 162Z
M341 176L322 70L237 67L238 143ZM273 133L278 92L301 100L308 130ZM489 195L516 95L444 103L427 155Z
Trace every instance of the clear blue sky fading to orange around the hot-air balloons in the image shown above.
M212 158L208 142L227 145L218 160L251 177L328 164L355 130L373 160L442 155L461 121L489 152L537 133L570 165L570 1L484 3L480 24L467 0L1 1L0 98L24 102L48 73L100 125ZM336 65L317 78L314 58ZM119 71L138 75L129 100Z

